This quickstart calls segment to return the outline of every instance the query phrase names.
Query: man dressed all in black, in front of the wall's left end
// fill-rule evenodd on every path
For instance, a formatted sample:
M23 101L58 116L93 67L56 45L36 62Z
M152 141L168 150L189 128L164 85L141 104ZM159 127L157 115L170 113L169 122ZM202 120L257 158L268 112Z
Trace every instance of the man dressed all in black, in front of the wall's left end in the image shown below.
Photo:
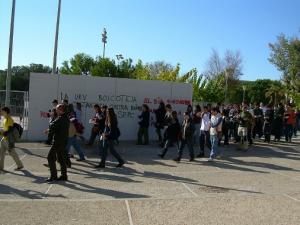
M58 115L57 119L46 130L46 133L53 135L53 145L47 157L51 176L46 180L47 182L68 180L66 161L70 122L64 105L57 105L56 112ZM61 167L61 176L59 178L57 178L56 160Z

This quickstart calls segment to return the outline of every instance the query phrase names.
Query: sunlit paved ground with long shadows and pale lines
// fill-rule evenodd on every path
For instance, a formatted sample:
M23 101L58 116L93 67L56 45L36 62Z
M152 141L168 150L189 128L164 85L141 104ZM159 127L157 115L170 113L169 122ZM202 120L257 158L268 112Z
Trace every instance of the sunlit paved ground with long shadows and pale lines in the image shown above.
M74 161L69 182L46 184L48 147L20 143L26 170L0 175L0 224L299 225L300 146L257 143L247 153L222 148L213 163L173 162L155 145L121 144L125 168L99 170L94 150ZM110 158L111 160L111 158Z

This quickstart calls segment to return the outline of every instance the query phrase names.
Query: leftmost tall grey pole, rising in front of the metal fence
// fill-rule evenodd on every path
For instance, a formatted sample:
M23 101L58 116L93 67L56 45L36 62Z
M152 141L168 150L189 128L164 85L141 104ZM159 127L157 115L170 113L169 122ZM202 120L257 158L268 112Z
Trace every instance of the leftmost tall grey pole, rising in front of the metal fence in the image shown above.
M12 1L12 9L11 9L10 34L9 34L9 50L8 50L8 65L7 65L7 75L6 75L5 105L7 107L10 107L11 67L12 67L12 52L13 52L13 42L14 42L15 9L16 9L16 0L13 0Z

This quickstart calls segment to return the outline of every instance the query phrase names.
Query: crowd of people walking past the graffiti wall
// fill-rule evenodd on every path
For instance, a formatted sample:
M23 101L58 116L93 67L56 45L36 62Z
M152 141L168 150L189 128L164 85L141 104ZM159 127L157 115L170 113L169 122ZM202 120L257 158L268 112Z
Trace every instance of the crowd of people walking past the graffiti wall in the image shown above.
M125 160L115 148L121 135L117 115L112 107L106 105L95 104L93 108L95 115L89 120L92 124L91 134L85 145L92 146L98 137L101 159L96 168L105 168L108 152L117 159L117 167L122 167ZM292 136L297 135L300 127L300 112L292 104L279 103L276 106L270 104L265 106L262 103L254 106L246 103L214 106L207 104L203 107L196 105L194 108L188 105L182 121L179 121L177 111L173 110L170 104L165 105L161 102L153 112L154 123L151 122L149 106L146 104L141 106L136 144L149 144L149 129L153 124L159 146L162 148L158 156L165 158L168 149L176 146L178 151L174 160L178 163L181 161L185 147L189 150L190 161L194 161L196 157L205 157L206 146L209 150L207 161L211 162L220 156L221 144L228 146L232 142L238 143L238 149L247 151L248 146L251 146L256 138L263 138L262 140L270 143L271 135L274 135L275 142L280 141L284 136L286 142L292 142ZM9 130L14 124L9 113L9 108L2 108L1 114L4 120L3 130L1 130L3 138L0 147L0 171L4 168L6 151L9 151L15 160L17 170L24 167L9 142ZM57 100L52 101L52 109L49 110L49 128L44 132L48 137L46 144L51 145L47 157L48 164L46 164L50 169L47 182L68 180L67 168L72 166L71 158L74 157L71 147L79 156L77 161L86 160L79 143L79 140L85 141L81 117L80 103L73 105L69 104L68 100L63 100L60 104ZM57 175L56 162L61 167L60 177Z

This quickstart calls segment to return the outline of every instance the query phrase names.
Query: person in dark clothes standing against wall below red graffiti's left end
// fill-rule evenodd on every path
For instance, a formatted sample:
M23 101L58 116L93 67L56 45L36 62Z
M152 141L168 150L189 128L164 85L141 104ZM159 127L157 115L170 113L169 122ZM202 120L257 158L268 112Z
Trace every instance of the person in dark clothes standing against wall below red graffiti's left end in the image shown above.
M148 128L150 124L150 112L148 105L142 106L142 114L139 116L140 122L140 128L138 131L138 145L148 145L149 144L149 134L148 134ZM143 136L144 136L144 143L143 143Z

